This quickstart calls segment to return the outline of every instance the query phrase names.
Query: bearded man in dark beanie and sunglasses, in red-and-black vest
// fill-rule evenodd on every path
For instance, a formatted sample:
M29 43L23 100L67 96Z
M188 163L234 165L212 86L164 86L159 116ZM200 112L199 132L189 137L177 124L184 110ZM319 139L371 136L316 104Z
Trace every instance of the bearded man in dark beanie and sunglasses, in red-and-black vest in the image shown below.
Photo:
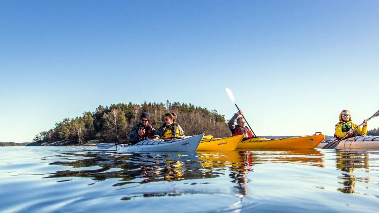
M139 141L146 140L148 138L157 138L157 130L150 126L150 114L145 112L141 114L141 122L132 127L129 134L129 141L132 145L138 143Z

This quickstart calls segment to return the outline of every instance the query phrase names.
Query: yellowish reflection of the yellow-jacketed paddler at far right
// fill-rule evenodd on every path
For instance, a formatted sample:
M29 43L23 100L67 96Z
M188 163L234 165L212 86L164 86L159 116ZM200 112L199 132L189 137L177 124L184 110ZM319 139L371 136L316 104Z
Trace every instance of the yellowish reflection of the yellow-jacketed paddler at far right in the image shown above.
M337 151L337 169L343 171L342 175L338 179L342 180L343 188L338 188L338 191L343 193L356 193L356 182L370 183L369 177L356 177L352 173L359 169L363 169L364 172L369 172L369 153L365 150L336 150Z

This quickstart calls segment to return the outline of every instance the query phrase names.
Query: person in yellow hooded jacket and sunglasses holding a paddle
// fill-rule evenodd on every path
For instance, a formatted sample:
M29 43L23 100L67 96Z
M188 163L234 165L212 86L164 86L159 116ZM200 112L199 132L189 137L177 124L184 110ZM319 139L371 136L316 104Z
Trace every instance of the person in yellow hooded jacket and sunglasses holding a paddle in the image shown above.
M335 125L335 137L337 138L343 138L345 135L350 135L352 134L353 130L358 126L357 124L354 124L351 122L351 114L349 110L343 110L340 113L339 116L340 122L338 122ZM356 130L356 133L360 133L362 135L367 135L367 120L365 119L363 121L363 128L358 127Z

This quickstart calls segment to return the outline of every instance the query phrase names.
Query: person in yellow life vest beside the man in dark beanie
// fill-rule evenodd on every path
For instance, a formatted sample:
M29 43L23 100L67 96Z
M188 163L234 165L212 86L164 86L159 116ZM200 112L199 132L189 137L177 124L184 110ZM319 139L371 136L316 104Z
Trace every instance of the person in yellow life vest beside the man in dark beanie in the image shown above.
M175 122L175 113L167 113L164 115L164 124L158 129L157 135L160 138L184 137L182 127Z

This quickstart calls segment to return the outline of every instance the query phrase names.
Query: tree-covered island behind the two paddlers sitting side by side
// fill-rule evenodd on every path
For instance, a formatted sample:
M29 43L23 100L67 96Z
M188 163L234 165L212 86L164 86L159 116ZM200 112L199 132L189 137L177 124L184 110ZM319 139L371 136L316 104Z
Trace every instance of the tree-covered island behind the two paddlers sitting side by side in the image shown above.
M70 144L83 144L90 140L102 139L104 142L127 143L130 130L140 121L141 113L150 114L149 124L158 129L164 123L164 114L174 112L176 122L183 128L186 136L201 132L214 137L230 136L224 115L216 110L195 107L194 105L167 100L165 104L129 102L99 106L92 112L84 112L76 118L65 118L55 123L55 127L42 131L33 139L33 145L51 144L57 141L70 141Z

